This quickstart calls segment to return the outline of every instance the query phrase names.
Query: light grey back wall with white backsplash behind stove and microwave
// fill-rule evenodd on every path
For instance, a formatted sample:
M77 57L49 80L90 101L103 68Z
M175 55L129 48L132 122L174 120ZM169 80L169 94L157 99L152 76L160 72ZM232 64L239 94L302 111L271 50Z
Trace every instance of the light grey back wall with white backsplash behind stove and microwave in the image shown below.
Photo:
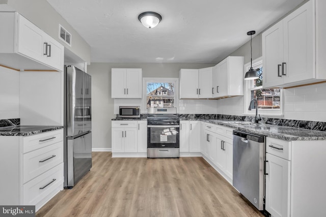
M111 148L111 119L114 108L121 105L141 105L137 99L111 98L112 68L141 68L143 77L178 78L179 70L200 69L212 64L123 64L92 63L87 72L92 76L92 145L93 148ZM116 105L115 105L116 104ZM216 100L180 100L179 113L215 113Z

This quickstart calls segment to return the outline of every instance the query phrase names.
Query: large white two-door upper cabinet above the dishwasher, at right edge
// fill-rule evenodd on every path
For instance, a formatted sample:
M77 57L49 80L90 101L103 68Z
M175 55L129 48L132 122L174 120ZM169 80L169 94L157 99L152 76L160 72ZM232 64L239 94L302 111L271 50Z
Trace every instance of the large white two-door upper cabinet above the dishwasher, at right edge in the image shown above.
M262 34L264 88L326 79L325 10L324 1L311 0Z

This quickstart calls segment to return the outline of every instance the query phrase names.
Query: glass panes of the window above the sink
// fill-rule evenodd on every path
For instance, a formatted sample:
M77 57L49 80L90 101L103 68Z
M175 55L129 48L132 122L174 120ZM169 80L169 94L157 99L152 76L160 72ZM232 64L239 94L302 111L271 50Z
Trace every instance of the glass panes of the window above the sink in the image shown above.
M249 81L249 90L251 91L251 98L256 99L258 109L280 109L280 88L267 88L263 89L263 67L260 66L256 69L259 78ZM256 109L253 103L251 109Z

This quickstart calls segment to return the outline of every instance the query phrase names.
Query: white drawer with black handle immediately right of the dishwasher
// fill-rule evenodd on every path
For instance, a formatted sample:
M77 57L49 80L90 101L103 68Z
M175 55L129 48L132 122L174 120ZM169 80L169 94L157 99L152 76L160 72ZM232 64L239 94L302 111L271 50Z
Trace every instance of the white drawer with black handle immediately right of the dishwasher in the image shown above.
M291 142L266 137L266 152L286 160L291 160Z

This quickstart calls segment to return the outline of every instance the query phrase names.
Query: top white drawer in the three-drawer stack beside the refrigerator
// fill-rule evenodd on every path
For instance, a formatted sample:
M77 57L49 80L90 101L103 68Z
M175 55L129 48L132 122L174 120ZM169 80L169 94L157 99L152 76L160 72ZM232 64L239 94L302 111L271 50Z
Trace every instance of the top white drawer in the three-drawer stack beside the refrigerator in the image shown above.
M63 129L22 137L22 151L27 153L63 141Z

